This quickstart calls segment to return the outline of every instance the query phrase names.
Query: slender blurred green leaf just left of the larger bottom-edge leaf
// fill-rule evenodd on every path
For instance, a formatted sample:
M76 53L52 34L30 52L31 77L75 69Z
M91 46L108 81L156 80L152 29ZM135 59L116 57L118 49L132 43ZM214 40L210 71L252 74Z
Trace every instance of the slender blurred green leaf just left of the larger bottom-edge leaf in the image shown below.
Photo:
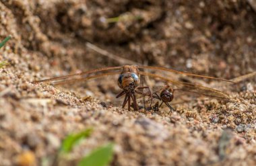
M61 152L69 153L75 144L79 143L80 140L87 138L92 133L92 128L89 128L85 131L78 132L76 134L69 134L61 144Z

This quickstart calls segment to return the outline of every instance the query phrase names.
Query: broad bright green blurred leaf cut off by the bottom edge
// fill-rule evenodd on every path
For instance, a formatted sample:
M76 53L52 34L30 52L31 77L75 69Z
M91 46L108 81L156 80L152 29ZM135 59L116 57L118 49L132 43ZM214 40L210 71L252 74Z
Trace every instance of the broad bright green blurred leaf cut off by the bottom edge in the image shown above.
M113 159L114 144L106 144L92 151L88 156L79 161L77 166L106 166Z

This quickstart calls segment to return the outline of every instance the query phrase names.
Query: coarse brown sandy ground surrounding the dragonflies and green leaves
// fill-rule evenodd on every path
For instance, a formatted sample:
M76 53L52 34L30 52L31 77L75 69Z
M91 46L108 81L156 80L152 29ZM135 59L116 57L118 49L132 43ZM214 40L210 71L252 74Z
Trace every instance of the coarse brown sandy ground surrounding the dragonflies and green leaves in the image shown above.
M255 165L255 78L220 88L233 102L197 96L171 114L122 109L117 77L30 83L126 63L88 42L136 64L245 75L256 69L255 9L231 0L1 0L0 39L12 38L0 50L9 62L0 69L0 165L26 165L25 155L31 165L51 163L61 140L86 128L94 132L62 165L107 142L115 142L111 165Z

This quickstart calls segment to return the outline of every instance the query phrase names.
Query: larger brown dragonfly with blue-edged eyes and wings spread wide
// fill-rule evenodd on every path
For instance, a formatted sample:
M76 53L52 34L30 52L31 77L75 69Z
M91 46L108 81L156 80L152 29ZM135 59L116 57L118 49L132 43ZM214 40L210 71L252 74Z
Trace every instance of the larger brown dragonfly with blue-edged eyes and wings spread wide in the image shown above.
M201 93L202 95L208 95L208 96L222 98L222 99L229 99L229 96L226 93L222 91L218 91L217 89L212 89L210 87L204 87L202 85L196 85L193 83L174 81L171 78L144 71L146 69L153 70L153 71L162 71L162 72L164 71L164 72L176 73L179 75L187 75L189 77L213 79L217 81L235 83L235 81L231 81L228 79L196 75L193 73L187 73L183 71L168 69L165 67L150 67L150 66L137 66L137 65L124 65L121 67L104 67L100 69L93 69L90 71L84 71L81 73L75 73L75 74L61 76L61 77L53 77L51 79L42 79L39 81L34 81L32 83L52 83L53 85L60 85L65 83L73 83L77 81L88 81L90 79L97 79L97 78L108 76L108 75L119 75L119 78L117 79L117 85L122 89L122 91L116 96L116 98L119 98L125 95L122 108L125 108L125 106L128 105L128 110L131 109L131 101L133 101L133 109L139 110L135 93L138 93L141 95L148 95L152 100L153 94L151 92L150 87L148 86L139 87L141 75L152 77L154 79L160 79L161 81L164 81L166 83L175 85L177 87L183 87L183 89L185 88L188 91ZM148 89L147 91L149 91L149 93L143 93L143 90L141 91L141 89Z

